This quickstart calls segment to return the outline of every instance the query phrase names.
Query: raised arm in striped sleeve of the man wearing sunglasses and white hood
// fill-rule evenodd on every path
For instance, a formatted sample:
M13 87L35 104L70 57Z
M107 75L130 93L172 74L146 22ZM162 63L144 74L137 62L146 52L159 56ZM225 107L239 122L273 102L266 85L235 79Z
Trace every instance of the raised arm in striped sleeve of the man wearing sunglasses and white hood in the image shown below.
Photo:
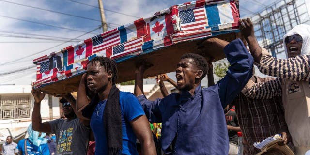
M244 24L241 33L245 36L255 62L259 63L258 69L263 74L294 81L310 81L310 55L297 55L288 59L274 58L266 49L259 47L251 20L248 18L242 21Z

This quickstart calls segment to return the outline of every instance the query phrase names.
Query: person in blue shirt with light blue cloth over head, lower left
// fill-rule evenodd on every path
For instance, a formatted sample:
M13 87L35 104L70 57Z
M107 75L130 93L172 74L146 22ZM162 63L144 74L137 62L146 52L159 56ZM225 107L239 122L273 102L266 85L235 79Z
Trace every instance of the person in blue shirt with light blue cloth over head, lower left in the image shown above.
M27 133L28 138L19 140L17 144L17 149L19 155L50 155L47 145L47 139L44 138L46 133L34 131L32 129L32 124L28 126Z

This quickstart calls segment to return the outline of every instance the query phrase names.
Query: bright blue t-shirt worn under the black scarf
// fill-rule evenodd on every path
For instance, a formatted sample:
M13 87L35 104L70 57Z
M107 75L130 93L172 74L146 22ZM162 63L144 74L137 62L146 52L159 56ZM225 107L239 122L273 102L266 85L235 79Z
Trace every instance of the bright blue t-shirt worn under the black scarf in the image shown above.
M98 103L91 117L90 125L96 141L95 155L108 155L107 135L103 124L106 101ZM144 111L136 96L129 92L120 92L120 105L122 113L123 155L138 155L136 135L129 122L141 115L145 115ZM97 111L99 111L98 115Z

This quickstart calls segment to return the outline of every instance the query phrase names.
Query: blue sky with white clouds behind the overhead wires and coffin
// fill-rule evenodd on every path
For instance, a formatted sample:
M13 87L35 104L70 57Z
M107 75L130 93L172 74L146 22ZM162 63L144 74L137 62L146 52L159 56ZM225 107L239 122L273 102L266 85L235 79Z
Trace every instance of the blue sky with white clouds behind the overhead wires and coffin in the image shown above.
M7 73L21 68L35 66L32 64L33 59L53 51L59 51L63 47L75 44L79 40L90 38L102 32L102 29L97 29L92 33L76 38L85 32L98 28L100 25L100 14L99 9L96 7L73 1L98 6L97 0L0 0L0 84L31 84L31 82L35 80L35 68L13 74ZM159 10L188 1L190 0L103 0L103 4L109 29L112 29L133 22L135 19L138 19L137 17L148 17ZM259 0L259 3L268 5L274 1L275 0ZM13 3L18 3L20 5ZM252 12L261 10L263 7L262 4L258 4L252 0L240 0L241 17L250 16L249 11L246 11L246 9ZM55 12L83 16L93 20L67 16ZM22 20L67 29L35 24ZM46 36L51 36L53 40L47 40ZM33 37L40 39L34 39ZM65 42L73 38L78 39L76 40L77 42ZM62 45L57 46L59 44ZM48 49L50 47L54 48ZM27 58L22 59L24 57Z

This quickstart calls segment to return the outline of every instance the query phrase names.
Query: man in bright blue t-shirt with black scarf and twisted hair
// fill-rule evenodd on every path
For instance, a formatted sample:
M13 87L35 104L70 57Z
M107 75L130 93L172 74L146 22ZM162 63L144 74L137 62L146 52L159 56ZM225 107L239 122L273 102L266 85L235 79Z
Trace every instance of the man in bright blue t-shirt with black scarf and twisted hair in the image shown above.
M79 84L78 117L90 119L96 141L95 154L138 155L137 136L143 155L155 155L152 132L143 109L132 93L116 88L117 77L116 62L95 57L88 63ZM87 98L89 93L93 94L91 102Z

